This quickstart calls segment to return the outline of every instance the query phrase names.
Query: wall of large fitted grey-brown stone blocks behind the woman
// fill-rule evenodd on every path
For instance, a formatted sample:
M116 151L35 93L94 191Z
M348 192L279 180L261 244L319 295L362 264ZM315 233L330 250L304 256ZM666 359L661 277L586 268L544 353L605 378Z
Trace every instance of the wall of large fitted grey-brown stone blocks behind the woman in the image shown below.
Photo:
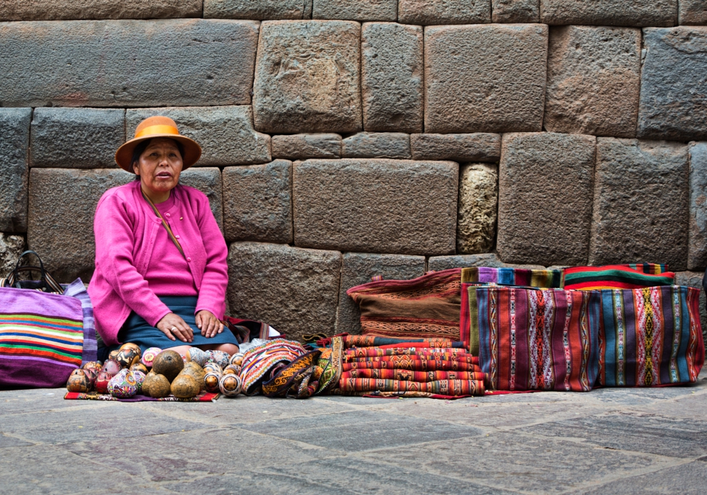
M0 267L93 272L150 115L229 244L228 303L356 332L346 289L457 266L707 267L707 1L0 0ZM706 325L707 329L707 325Z

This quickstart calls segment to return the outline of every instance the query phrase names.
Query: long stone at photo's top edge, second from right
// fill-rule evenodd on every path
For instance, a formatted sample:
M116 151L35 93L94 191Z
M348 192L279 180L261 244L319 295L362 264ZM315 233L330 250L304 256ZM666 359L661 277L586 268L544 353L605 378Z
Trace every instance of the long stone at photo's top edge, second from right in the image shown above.
M670 26L677 23L677 0L540 0L540 22Z

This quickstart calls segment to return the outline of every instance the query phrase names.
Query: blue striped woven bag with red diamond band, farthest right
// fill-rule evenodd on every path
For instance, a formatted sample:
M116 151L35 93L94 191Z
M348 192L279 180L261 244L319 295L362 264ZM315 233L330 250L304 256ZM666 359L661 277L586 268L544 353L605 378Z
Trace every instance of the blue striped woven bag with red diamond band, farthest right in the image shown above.
M699 289L601 291L600 385L693 383L704 363Z

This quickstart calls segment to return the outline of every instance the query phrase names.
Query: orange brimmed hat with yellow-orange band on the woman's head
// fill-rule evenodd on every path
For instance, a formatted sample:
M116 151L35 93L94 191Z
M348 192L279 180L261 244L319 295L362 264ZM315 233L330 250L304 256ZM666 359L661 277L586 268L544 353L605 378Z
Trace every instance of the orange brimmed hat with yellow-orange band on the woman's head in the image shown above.
M115 152L115 163L127 172L134 172L132 156L135 147L142 141L156 137L174 139L184 146L184 156L182 156L184 166L182 170L187 170L187 168L199 161L201 146L197 144L197 141L189 139L187 136L182 136L174 120L170 119L170 117L148 117L138 124L137 129L135 129L135 137L120 146L118 151Z

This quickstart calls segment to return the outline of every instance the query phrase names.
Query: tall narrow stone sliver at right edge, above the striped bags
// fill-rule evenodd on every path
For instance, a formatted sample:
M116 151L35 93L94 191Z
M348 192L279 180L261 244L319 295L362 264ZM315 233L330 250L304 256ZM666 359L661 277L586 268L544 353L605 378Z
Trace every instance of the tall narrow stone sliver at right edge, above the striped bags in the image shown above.
M707 143L691 143L687 269L707 268Z

